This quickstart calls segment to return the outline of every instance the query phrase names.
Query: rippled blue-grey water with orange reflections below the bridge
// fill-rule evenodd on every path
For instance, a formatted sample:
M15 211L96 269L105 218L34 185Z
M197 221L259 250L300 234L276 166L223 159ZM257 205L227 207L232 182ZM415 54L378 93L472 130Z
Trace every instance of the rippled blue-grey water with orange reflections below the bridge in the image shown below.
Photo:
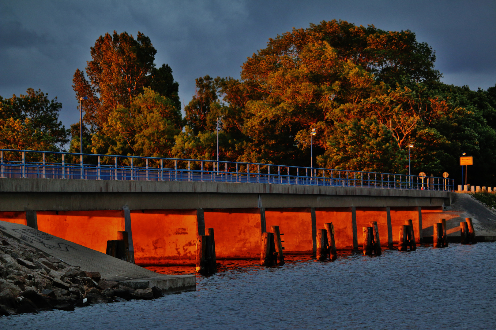
M0 318L0 329L495 329L496 243L289 256L282 267L220 261L197 290ZM155 271L191 273L191 267Z

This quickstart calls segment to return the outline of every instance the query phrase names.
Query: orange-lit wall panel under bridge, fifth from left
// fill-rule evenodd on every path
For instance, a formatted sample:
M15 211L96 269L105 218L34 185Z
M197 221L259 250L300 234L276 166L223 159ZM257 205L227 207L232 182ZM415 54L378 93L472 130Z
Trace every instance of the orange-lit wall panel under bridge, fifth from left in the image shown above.
M265 223L279 226L285 252L313 253L310 208L265 209Z

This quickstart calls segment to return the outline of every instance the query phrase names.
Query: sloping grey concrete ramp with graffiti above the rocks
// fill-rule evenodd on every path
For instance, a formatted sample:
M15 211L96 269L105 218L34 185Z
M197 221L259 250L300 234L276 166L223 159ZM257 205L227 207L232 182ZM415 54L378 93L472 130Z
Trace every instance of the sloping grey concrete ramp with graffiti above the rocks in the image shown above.
M48 256L59 258L81 270L99 272L107 281L117 281L132 288L158 286L164 293L196 289L192 275L162 275L110 255L92 250L39 230L20 224L0 221L0 231Z

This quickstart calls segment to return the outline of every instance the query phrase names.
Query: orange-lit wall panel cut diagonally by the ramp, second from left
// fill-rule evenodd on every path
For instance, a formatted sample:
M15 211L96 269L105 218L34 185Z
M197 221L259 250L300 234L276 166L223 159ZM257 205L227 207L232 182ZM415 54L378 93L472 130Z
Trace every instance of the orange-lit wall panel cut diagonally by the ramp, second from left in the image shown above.
M103 253L124 231L124 211L39 211L38 230Z

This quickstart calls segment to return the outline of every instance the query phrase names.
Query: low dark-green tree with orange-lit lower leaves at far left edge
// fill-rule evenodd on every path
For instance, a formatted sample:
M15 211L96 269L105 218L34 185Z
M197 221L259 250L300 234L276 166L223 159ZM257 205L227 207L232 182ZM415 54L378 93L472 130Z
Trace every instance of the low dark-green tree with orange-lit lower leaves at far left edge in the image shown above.
M5 149L60 151L68 130L59 121L62 103L57 97L32 88L26 95L0 96L0 147Z

